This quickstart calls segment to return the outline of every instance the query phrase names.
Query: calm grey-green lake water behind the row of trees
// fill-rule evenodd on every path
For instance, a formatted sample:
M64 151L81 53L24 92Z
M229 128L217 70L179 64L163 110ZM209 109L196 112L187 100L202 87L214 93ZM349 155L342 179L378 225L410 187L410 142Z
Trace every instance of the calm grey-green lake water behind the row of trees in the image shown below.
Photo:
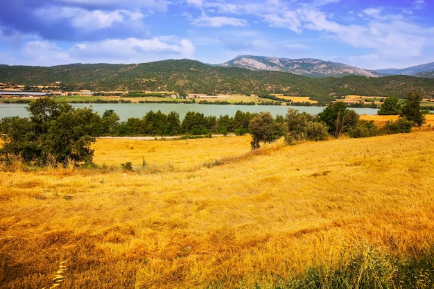
M8 116L28 117L26 104L15 103L0 103L0 119ZM198 103L178 104L178 103L73 103L73 107L83 108L89 107L98 112L100 116L106 110L114 110L119 115L121 121L127 121L132 117L141 118L151 110L157 112L158 110L164 114L175 111L180 114L180 121L184 119L187 112L200 112L205 116L220 116L227 114L234 116L237 110L241 112L270 112L272 116L281 114L285 116L289 107L299 110L300 112L307 112L308 114L318 114L324 110L325 107L314 106L286 106L286 105L200 105ZM355 110L358 114L376 114L378 111L374 108L356 107Z

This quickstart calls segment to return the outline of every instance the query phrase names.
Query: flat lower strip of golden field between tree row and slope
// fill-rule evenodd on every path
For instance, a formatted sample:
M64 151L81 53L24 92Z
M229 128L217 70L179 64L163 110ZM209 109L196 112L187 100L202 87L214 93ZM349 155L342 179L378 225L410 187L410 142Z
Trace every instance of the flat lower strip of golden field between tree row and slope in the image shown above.
M130 161L140 168L143 160L151 168L189 170L207 162L240 155L250 150L250 136L146 141L141 139L98 139L94 162L100 166L120 166Z

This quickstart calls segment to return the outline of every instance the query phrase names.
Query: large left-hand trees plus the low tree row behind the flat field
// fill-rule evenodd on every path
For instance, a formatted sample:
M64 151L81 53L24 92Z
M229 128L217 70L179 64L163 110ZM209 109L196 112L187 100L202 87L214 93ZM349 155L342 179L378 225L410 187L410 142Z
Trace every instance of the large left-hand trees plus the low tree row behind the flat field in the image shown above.
M89 108L74 109L69 103L39 98L28 104L28 118L8 117L1 120L3 148L1 161L6 164L20 159L37 166L91 163L96 137L112 136L175 136L234 132L245 134L253 117L250 112L236 112L234 117L205 116L187 112L180 121L177 112L148 112L141 119L120 122L113 110L100 116Z

